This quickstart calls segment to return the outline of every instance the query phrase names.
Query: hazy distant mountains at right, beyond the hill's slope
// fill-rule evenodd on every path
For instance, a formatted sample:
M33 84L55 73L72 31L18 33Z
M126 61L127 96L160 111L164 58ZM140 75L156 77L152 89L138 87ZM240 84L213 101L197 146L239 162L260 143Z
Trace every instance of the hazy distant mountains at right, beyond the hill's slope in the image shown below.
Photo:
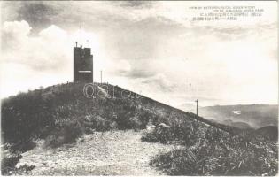
M196 105L182 104L179 109L196 112ZM278 125L278 105L237 104L198 107L198 115L231 127L259 128Z

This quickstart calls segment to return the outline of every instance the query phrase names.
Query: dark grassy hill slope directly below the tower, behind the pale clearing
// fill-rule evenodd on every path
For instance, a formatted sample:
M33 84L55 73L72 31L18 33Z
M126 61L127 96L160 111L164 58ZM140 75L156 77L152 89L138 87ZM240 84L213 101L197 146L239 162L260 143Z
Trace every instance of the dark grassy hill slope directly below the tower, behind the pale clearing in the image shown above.
M201 127L205 127L205 122L226 131L237 131L120 87L105 85L103 88L111 98L97 96L92 100L83 96L82 83L68 83L2 100L4 142L27 142L35 137L46 137L61 127L81 127L82 131L88 131L87 127L101 131L113 126L119 129L143 128L150 120L154 124L165 122L172 125L179 120L190 122L198 119ZM96 94L99 91L95 88ZM101 125L94 127L93 123Z

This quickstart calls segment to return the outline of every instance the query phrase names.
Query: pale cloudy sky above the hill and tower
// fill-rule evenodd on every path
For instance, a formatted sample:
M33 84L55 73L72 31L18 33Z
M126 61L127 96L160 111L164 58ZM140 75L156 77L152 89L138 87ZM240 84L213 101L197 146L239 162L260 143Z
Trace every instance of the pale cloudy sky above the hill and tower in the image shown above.
M262 16L193 21L193 6ZM277 104L276 2L1 2L1 97L73 81L74 42L95 81L165 104ZM88 40L88 42L87 42Z

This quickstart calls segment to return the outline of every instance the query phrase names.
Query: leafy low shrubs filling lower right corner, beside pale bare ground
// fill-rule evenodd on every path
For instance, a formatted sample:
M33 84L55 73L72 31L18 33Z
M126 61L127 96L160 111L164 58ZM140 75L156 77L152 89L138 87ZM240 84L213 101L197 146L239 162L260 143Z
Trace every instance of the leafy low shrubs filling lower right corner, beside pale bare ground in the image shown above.
M160 154L151 165L170 175L275 175L278 150L274 142L260 136L247 140L208 127L205 138Z

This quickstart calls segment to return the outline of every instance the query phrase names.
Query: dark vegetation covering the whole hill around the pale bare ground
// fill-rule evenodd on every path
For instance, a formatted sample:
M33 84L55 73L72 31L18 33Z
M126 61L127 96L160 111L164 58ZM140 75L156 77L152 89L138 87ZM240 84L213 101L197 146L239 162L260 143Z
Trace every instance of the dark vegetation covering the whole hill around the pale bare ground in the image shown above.
M36 139L56 148L96 131L136 130L164 123L167 127L156 128L142 140L184 147L151 161L168 174L277 173L275 142L260 135L182 112L118 86L94 85L88 90L90 94L94 89L94 99L84 96L83 89L83 83L67 83L4 99L3 142L13 153L21 153L34 148Z

